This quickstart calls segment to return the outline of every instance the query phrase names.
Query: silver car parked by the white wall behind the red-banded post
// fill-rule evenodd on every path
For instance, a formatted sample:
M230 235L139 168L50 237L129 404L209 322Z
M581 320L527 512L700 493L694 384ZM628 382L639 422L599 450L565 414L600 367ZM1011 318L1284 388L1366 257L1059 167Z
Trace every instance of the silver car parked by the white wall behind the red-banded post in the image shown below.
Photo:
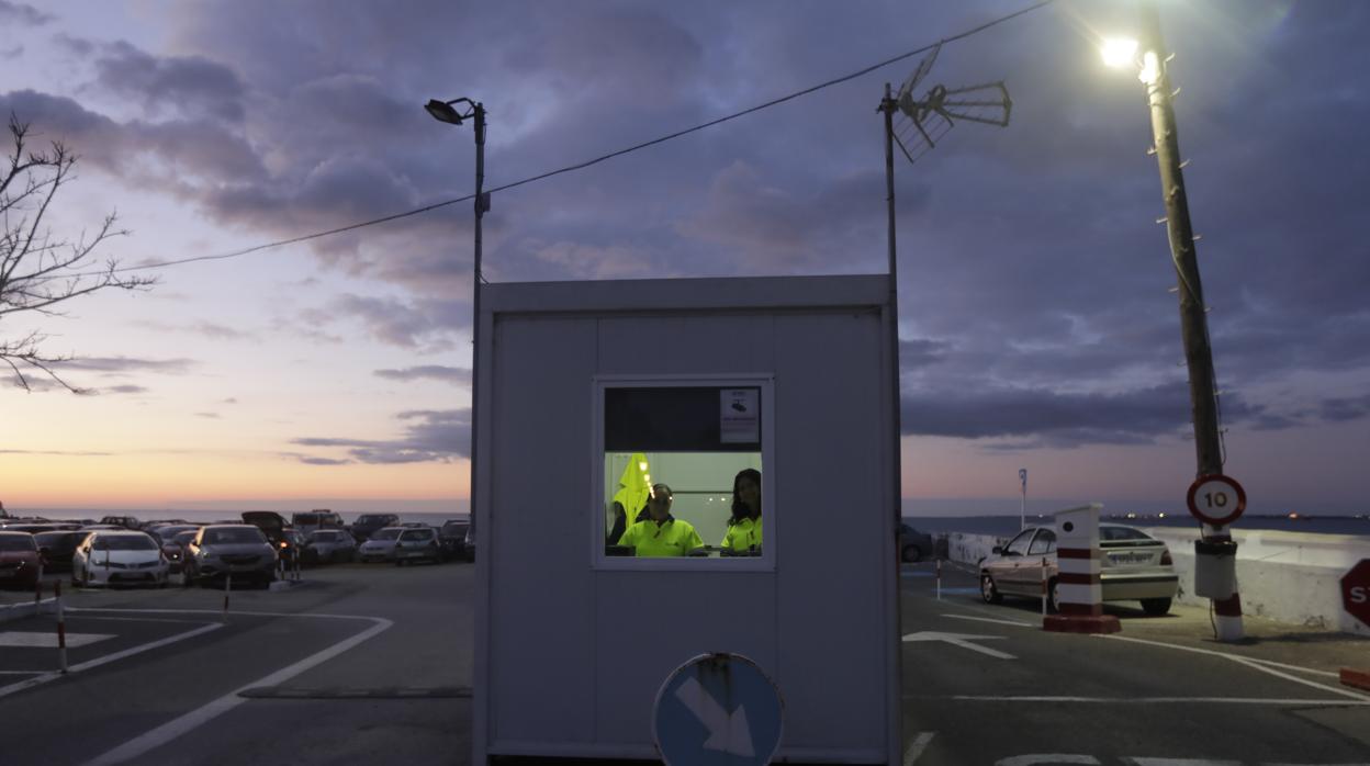
M1099 547L1103 549L1099 562L1103 600L1138 600L1141 608L1152 615L1170 611L1180 578L1164 543L1132 526L1100 523ZM1023 529L980 563L981 597L986 603L999 603L1003 596L1040 599L1044 559L1047 607L1055 611L1060 603L1056 592L1056 530L1045 526Z

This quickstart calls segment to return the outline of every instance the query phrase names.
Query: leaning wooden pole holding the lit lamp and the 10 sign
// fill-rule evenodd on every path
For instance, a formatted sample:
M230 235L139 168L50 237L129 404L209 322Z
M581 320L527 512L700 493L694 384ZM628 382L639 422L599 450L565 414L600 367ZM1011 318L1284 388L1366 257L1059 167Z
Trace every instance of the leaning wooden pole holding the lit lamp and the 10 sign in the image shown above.
M1193 226L1189 221L1189 200L1180 160L1180 136L1171 104L1170 75L1166 73L1166 47L1160 36L1160 12L1151 0L1141 3L1141 81L1147 86L1151 107L1151 132L1155 140L1156 164L1160 169L1160 193L1166 206L1166 232L1170 256L1180 278L1180 330L1189 369L1189 401L1193 411L1196 475L1222 473L1222 441L1218 433L1218 395L1214 381L1212 348L1208 344L1208 318L1199 280L1199 260L1195 251ZM1230 541L1232 534L1222 526L1204 525L1204 540ZM1244 636L1241 625L1241 597L1234 592L1229 599L1215 599L1218 640L1238 641Z

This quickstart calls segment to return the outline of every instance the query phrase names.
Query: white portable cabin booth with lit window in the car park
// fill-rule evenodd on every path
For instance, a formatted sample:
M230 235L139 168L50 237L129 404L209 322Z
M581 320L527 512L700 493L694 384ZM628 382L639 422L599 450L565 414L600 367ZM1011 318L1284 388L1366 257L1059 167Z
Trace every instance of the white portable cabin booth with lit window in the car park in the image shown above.
M888 301L884 275L482 288L475 763L656 758L656 692L704 652L778 687L775 761L899 763ZM633 454L710 547L759 469L759 555L607 545Z

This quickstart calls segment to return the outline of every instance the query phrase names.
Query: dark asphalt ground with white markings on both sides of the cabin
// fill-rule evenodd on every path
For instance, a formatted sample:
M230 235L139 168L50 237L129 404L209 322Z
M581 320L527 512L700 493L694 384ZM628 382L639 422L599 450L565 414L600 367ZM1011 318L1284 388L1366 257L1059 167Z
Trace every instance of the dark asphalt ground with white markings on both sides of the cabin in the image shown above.
M226 622L218 591L77 592L67 676L51 615L0 623L0 763L470 763L473 574L318 569ZM1045 633L973 573L900 582L904 766L1370 763L1370 693L1333 677L1370 641L1248 619L1223 645L1192 608Z

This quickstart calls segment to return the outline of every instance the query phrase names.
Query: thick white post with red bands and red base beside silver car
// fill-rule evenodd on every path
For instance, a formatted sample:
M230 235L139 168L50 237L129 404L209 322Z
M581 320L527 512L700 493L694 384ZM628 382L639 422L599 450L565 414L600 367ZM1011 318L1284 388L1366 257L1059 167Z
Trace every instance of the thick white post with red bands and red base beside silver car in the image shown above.
M1097 503L1056 514L1056 608L1043 618L1045 630L1117 633L1122 623L1104 614ZM1045 567L1043 567L1045 571ZM1049 586L1049 585L1048 585ZM1047 595L1049 599L1049 595Z

